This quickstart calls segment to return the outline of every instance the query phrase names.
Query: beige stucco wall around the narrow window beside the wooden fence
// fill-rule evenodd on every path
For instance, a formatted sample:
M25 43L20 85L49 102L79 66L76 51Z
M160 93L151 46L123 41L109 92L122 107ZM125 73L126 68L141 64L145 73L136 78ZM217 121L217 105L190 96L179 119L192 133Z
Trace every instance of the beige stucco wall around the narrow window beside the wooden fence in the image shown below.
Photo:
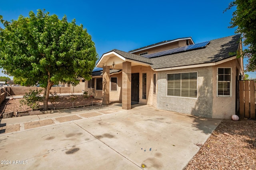
M236 114L236 68L238 75L242 73L241 58L235 59L226 63L213 66L213 106L212 118L214 119L230 119L231 115ZM217 96L217 69L218 68L232 68L231 75L231 96L218 97Z

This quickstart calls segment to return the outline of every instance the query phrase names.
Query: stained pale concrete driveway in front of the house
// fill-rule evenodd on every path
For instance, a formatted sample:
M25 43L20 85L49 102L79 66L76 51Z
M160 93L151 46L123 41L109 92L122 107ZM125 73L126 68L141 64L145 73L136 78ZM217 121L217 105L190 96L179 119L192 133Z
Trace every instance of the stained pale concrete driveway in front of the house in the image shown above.
M2 119L0 168L182 170L221 121L120 105Z

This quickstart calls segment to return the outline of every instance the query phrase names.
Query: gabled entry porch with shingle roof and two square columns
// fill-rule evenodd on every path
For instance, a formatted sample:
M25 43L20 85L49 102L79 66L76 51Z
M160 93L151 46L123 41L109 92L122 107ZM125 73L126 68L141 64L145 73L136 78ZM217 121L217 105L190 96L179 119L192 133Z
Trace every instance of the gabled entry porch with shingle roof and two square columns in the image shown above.
M122 70L122 109L131 109L133 102L139 102L139 73L132 74L134 66L150 66L152 63L145 57L112 50L102 55L97 67L103 68L102 76L102 104L109 104L110 69ZM133 75L133 78L132 78ZM133 79L133 80L132 80Z

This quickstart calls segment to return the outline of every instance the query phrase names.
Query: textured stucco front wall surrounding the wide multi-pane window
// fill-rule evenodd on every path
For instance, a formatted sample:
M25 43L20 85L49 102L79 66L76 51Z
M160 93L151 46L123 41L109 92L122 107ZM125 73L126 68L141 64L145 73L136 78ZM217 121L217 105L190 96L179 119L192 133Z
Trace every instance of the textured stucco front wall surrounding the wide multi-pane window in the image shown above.
M197 72L197 98L167 96L166 74L183 72ZM201 117L212 117L212 66L158 72L157 108Z

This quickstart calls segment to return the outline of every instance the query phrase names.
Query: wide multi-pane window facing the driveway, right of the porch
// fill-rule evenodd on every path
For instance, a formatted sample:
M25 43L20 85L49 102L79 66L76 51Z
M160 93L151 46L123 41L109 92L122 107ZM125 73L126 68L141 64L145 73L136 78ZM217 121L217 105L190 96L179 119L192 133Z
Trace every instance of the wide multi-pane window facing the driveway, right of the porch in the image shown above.
M167 96L197 97L197 72L167 74Z

